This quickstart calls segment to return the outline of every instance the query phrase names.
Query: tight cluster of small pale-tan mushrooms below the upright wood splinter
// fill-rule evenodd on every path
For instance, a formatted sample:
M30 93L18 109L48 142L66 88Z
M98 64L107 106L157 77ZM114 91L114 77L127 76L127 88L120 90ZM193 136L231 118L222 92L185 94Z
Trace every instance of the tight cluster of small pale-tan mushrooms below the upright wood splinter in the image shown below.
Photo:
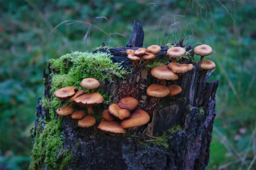
M155 55L160 51L161 47L159 45L151 45L148 48L138 48L137 50L128 49L126 50L126 54L127 58L132 61L133 69L135 70L139 66L143 67L146 65L149 60L151 60L151 64L153 64ZM143 64L141 64L142 59L144 60Z

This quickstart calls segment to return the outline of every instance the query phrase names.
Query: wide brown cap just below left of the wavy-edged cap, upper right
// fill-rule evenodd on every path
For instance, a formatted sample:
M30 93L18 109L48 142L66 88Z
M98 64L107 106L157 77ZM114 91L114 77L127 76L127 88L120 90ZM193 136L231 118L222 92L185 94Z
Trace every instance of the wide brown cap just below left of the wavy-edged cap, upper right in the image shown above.
M177 80L179 76L172 72L167 65L161 65L151 70L151 75L161 80Z

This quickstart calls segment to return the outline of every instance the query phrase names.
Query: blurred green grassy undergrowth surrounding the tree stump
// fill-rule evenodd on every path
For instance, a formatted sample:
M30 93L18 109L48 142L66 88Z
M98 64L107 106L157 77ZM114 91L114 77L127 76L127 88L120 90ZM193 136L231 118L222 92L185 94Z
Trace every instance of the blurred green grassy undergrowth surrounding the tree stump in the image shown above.
M102 42L125 46L134 20L145 46L168 37L212 46L210 80L220 84L207 168L256 169L255 11L255 0L0 0L0 169L29 166L47 60ZM65 20L74 21L54 29Z

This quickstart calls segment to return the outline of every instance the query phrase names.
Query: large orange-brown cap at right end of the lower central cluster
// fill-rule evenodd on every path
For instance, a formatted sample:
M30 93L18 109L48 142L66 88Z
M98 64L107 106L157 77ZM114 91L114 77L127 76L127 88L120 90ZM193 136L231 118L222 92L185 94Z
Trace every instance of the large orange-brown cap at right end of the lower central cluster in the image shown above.
M137 127L145 125L148 123L149 119L150 117L147 112L141 109L136 109L131 113L131 117L123 120L120 125L123 128Z

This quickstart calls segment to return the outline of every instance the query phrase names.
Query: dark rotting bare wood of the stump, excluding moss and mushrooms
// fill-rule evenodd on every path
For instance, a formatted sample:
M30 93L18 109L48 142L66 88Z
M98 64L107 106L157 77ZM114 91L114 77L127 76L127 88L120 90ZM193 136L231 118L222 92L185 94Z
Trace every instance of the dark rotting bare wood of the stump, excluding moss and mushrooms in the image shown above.
M102 52L111 53L114 62L123 62L124 67L131 67L127 59L126 49L137 49L134 45L143 42L144 31L139 22L134 22L133 34L141 35L140 40L134 41L134 36L128 47L100 49ZM136 37L136 36L135 36ZM183 40L175 43L183 47ZM141 44L142 46L142 44ZM166 56L168 48L161 46L162 51L157 57ZM191 46L186 47L187 51ZM110 52L109 52L110 51ZM190 51L193 56L193 50ZM191 63L190 59L183 59L183 63ZM201 170L209 161L209 145L211 142L212 125L215 117L215 92L218 81L207 82L213 71L201 71L200 63L193 63L194 69L180 75L177 81L166 81L166 85L180 85L182 92L174 97L161 99L149 97L146 89L156 83L157 79L151 76L151 68L138 68L126 79L113 77L113 82L106 82L100 90L115 96L113 102L125 96L133 96L139 100L138 108L148 112L151 122L139 128L129 129L129 135L109 136L94 128L81 128L77 121L64 117L62 120L63 141L62 148L72 148L72 157L64 169L81 170ZM51 70L49 70L49 73ZM51 88L49 74L44 74L47 79L45 96L49 98ZM51 101L49 101L51 102ZM103 108L99 106L99 111ZM37 120L32 133L34 141L39 136L36 133L44 131L47 123L47 110L38 100ZM99 122L98 122L99 123ZM37 131L40 124L41 132ZM97 127L97 125L96 125ZM175 127L175 128L174 128ZM165 133L163 133L165 132ZM159 136L159 138L149 137ZM161 136L163 135L163 136ZM167 136L167 137L166 137ZM163 141L153 140L163 139ZM146 141L149 140L149 141ZM67 155L55 153L58 157L56 164ZM47 154L45 155L47 157ZM62 157L62 158L61 158ZM33 158L32 158L33 159ZM44 158L43 158L44 159ZM37 160L33 160L36 162ZM40 167L40 165L39 165ZM51 165L41 164L42 169L49 169ZM61 166L60 166L61 167Z

